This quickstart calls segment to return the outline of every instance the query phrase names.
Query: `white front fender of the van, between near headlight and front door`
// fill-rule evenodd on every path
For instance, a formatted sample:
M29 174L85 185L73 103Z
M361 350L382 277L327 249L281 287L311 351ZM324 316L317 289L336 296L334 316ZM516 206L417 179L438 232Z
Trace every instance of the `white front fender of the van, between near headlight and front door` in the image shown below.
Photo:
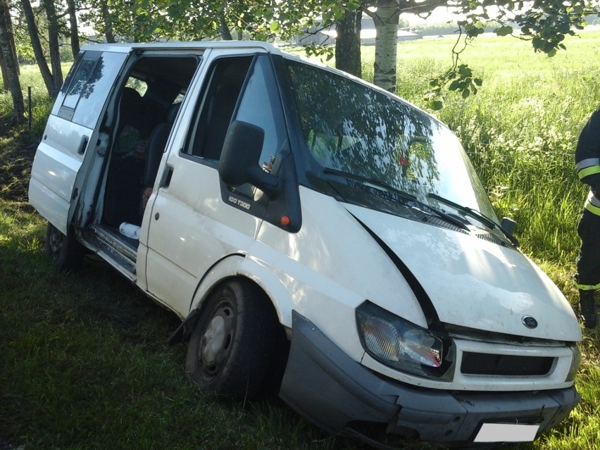
M358 221L332 197L299 189L301 230L291 234L263 223L257 240L264 246L252 253L287 286L293 301L289 307L311 315L315 325L356 361L363 348L355 309L365 300L389 311L401 309L404 318L426 327L412 289ZM291 326L292 311L285 309L281 315L284 325Z

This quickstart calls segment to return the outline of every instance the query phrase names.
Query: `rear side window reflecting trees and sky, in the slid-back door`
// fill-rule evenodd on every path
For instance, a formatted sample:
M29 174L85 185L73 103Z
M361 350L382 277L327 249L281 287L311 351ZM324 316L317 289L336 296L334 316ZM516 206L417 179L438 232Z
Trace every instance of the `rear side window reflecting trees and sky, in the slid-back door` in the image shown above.
M127 54L86 51L71 69L52 113L88 128L96 127L126 58Z

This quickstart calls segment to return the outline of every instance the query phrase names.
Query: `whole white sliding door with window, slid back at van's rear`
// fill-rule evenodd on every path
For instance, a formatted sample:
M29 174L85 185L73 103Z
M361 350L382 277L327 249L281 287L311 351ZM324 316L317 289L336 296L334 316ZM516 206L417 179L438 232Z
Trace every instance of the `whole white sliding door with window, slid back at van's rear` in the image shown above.
M128 54L84 51L67 76L46 123L32 165L29 201L67 234L85 177L77 177L92 158L97 127ZM89 150L88 150L89 149Z

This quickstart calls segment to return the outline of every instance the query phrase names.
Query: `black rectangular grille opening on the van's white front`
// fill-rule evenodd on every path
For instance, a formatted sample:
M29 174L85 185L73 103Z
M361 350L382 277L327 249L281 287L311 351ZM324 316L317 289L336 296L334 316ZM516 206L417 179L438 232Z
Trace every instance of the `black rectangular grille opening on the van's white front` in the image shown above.
M463 354L461 372L465 375L540 376L554 364L550 356L513 356L474 353Z

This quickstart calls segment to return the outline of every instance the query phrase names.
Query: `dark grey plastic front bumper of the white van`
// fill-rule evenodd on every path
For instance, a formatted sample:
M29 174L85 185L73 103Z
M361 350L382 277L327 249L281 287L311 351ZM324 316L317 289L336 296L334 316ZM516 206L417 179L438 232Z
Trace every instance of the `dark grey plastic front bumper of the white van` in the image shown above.
M280 397L333 434L374 444L364 430L444 444L473 442L483 423L557 425L575 408L574 387L535 392L420 389L378 377L293 311L292 345Z

